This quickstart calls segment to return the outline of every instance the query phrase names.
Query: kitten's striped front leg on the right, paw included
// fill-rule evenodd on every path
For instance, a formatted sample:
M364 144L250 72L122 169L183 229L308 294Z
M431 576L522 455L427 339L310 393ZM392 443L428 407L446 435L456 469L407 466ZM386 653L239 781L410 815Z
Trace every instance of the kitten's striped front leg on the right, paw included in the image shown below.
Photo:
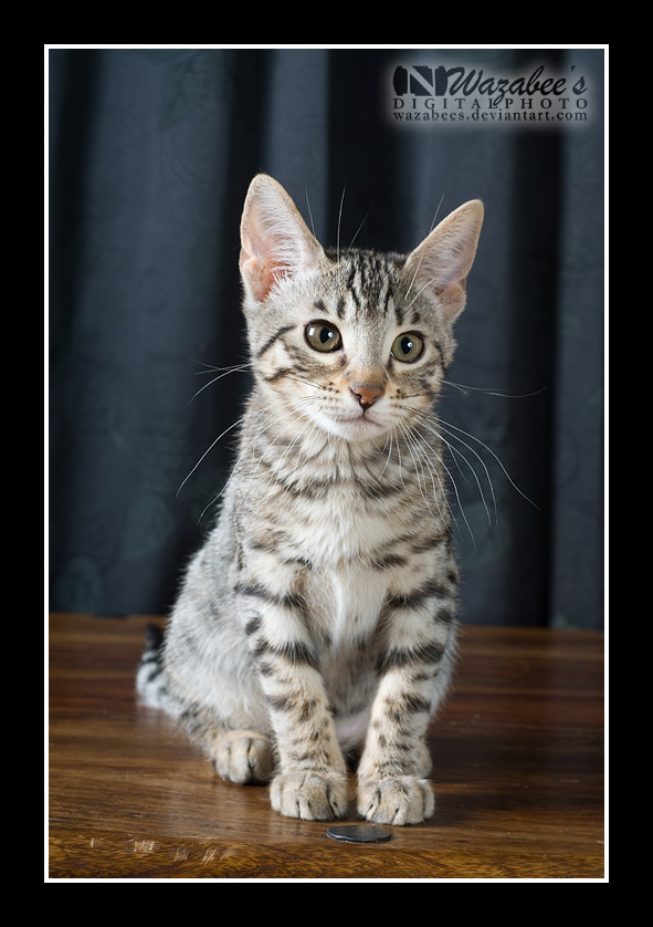
M423 603L422 603L423 604ZM424 622L420 610L401 608L390 619L390 643L380 658L381 677L366 747L358 767L358 812L377 824L418 824L435 801L426 729L446 687L454 628L446 618Z

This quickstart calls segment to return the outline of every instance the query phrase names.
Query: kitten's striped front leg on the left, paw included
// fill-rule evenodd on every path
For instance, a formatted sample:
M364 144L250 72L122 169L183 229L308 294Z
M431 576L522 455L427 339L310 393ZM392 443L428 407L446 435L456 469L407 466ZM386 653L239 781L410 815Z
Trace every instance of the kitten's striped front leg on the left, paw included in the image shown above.
M247 625L272 725L278 771L270 795L275 811L288 817L328 821L347 811L347 774L296 596L256 587L257 612ZM253 597L252 589L249 590Z

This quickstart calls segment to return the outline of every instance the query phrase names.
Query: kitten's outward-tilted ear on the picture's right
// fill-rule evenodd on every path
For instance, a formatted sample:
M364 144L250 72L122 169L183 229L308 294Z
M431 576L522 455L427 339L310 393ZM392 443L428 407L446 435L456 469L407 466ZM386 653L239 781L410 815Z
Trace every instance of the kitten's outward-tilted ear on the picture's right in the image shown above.
M465 306L465 281L474 263L483 215L480 199L459 206L406 262L411 292L423 291L436 301L446 322L453 322Z

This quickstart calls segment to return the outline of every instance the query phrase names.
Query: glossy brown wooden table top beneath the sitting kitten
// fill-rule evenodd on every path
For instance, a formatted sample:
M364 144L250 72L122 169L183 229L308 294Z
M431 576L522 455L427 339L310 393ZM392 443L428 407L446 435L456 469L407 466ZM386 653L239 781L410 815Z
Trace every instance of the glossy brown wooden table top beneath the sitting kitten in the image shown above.
M139 704L148 619L51 616L49 881L607 881L601 635L464 627L435 816L350 844L222 782Z

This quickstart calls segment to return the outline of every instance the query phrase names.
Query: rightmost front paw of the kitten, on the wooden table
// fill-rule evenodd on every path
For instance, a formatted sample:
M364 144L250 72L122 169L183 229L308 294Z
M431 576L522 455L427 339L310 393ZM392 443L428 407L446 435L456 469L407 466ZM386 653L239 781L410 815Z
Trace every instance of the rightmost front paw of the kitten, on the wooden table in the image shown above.
M419 824L435 811L431 783L414 775L362 779L358 813L375 824Z

